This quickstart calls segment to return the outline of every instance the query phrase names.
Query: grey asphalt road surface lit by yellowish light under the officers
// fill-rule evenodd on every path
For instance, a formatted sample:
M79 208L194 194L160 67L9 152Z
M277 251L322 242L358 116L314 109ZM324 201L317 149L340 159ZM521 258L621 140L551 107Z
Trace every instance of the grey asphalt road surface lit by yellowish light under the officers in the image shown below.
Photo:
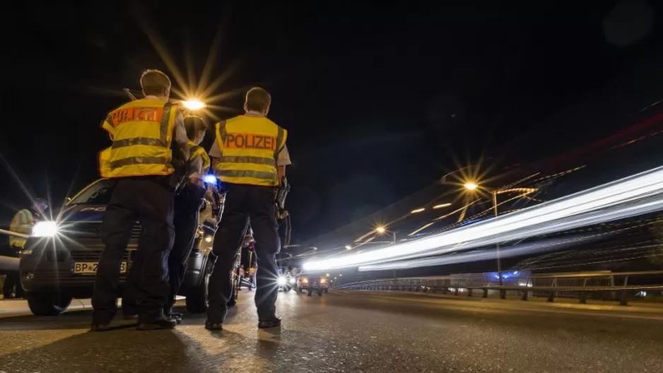
M90 333L90 311L0 318L0 372L662 372L663 312L393 293L278 297L259 331L243 292L225 329L129 321ZM119 318L118 318L119 319Z

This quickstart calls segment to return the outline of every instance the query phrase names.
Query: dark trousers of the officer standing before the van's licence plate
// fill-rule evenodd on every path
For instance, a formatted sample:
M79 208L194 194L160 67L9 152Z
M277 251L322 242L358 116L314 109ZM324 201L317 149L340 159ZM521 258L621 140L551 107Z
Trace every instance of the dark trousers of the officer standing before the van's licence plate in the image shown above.
M136 304L141 322L163 314L170 292L168 254L173 244L174 196L165 177L124 177L117 180L101 224L105 249L99 260L92 297L94 320L108 322L117 312L120 266L136 220L141 223L138 255L143 263L131 270L139 276Z

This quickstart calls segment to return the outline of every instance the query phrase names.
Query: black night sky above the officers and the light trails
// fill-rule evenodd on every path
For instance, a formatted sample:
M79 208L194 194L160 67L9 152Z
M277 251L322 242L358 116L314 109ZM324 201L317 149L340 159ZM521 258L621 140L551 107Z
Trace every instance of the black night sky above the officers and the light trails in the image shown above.
M546 118L663 45L655 1L139 3L25 2L6 14L0 225L28 205L7 166L53 201L95 179L109 144L100 120L127 100L122 88L139 90L144 69L180 90L177 74L194 91L223 78L211 93L230 108L213 111L221 119L240 113L252 85L270 91L269 117L290 131L295 238L307 238L456 162L527 162L618 131L627 123Z

